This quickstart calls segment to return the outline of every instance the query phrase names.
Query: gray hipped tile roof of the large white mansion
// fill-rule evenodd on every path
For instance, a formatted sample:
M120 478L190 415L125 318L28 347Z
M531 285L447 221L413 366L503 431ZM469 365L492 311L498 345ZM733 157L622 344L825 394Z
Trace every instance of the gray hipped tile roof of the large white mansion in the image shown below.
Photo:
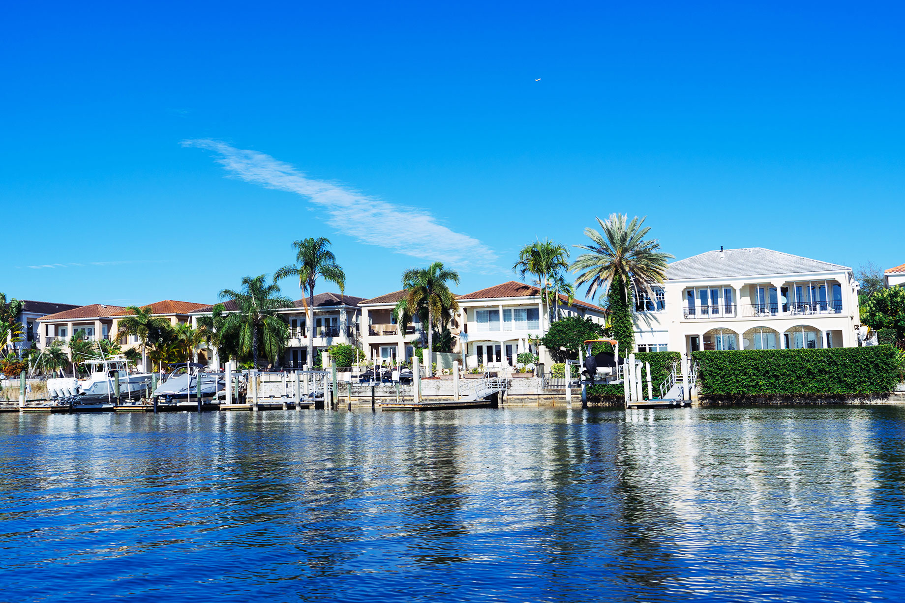
M672 262L666 269L670 279L733 278L754 275L800 274L827 270L851 270L847 266L802 258L782 251L747 247L740 250L706 251Z

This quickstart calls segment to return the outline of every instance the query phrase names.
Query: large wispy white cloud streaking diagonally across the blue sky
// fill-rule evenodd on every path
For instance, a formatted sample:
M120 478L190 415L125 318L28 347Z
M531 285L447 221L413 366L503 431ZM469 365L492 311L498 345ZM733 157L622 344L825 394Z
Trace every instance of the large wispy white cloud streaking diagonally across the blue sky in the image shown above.
M424 210L388 203L341 184L307 177L292 165L257 151L235 148L219 140L184 140L216 153L216 161L242 180L299 194L329 214L330 226L342 234L396 253L433 261L453 269L490 271L497 255L480 240L452 231Z

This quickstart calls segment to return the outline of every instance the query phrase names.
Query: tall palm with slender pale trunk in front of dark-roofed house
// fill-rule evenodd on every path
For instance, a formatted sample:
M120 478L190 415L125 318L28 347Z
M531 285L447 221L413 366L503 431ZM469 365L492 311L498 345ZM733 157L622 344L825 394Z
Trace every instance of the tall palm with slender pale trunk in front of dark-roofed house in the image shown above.
M324 237L296 240L292 243L295 250L295 263L283 266L273 274L273 280L295 277L299 278L302 291L302 305L308 322L308 364L314 366L314 287L318 278L323 278L339 287L339 294L346 290L346 273L337 264L336 256L329 250L330 241ZM304 294L308 293L308 301Z

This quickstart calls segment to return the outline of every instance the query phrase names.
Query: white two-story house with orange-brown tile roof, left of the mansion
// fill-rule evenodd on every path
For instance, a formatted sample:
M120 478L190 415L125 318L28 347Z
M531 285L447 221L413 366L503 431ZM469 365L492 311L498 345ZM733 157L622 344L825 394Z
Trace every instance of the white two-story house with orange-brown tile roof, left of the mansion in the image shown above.
M547 316L540 289L510 280L500 285L458 297L462 359L467 367L500 366L516 362L519 353L538 353L550 363L546 350L534 343L547 334L552 316ZM550 313L555 308L549 308ZM559 296L559 316L590 317L601 325L605 310L585 301Z

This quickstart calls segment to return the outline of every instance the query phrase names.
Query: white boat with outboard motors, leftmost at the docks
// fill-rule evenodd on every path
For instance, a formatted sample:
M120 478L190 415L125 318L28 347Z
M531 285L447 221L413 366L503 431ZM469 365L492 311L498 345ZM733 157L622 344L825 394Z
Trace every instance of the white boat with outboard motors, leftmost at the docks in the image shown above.
M108 410L123 400L140 400L143 392L151 387L151 373L130 373L129 361L124 356L90 358L81 364L88 369L85 379L47 380L47 393L52 401L81 410Z

